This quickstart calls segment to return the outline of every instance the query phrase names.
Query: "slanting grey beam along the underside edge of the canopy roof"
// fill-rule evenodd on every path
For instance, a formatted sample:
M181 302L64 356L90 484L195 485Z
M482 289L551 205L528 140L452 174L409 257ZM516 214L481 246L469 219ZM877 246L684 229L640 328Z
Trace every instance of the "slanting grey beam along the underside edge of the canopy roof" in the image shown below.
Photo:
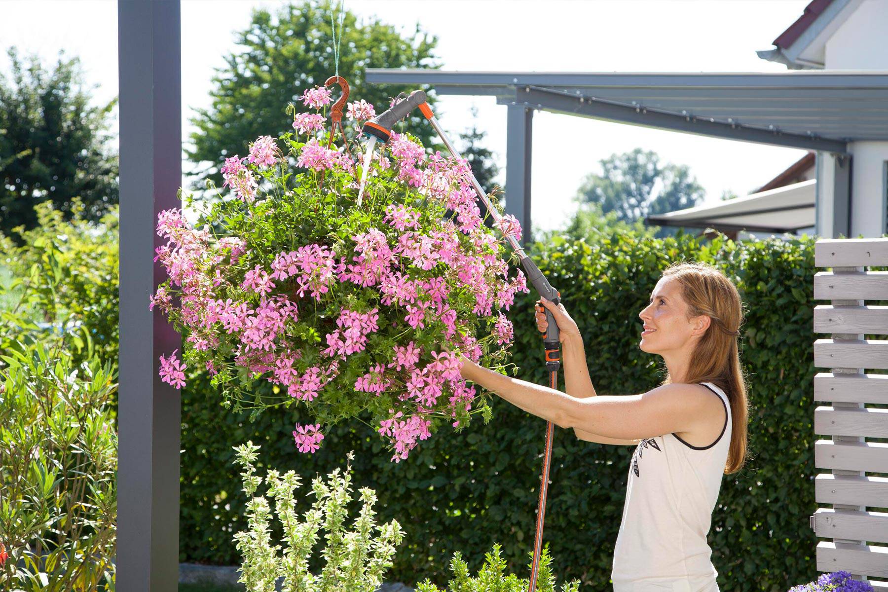
M610 101L550 91L537 87L523 87L515 91L515 100L522 100L543 111L559 114L580 115L612 122L635 123L661 130L683 131L686 133L756 142L772 146L789 146L807 150L825 150L839 154L847 152L845 142L839 140L810 138L778 130L758 130L741 124L712 122L709 119L663 113L646 107L630 107Z

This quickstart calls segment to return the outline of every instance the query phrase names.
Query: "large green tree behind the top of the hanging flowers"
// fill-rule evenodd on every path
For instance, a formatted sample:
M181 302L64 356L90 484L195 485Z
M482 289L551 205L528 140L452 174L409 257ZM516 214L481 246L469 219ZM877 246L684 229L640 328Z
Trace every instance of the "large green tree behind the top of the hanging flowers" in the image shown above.
M288 4L274 15L264 9L252 13L250 26L237 34L239 51L227 56L226 67L218 68L213 77L211 107L197 109L191 119L197 131L191 135L194 149L186 147L186 155L202 165L192 176L210 177L222 185L219 168L224 157L244 155L250 141L260 135L280 136L289 130L287 105L295 103L297 110L304 110L297 102L302 92L336 72L331 15L337 20L338 37L339 4L329 0ZM350 100L364 99L381 112L399 92L415 90L368 84L364 78L368 67L438 67L432 55L437 38L418 25L412 36L403 37L377 18L358 23L353 12L342 16L339 75L351 85ZM334 89L336 98L338 87ZM418 111L404 129L425 146L432 145L434 131ZM201 187L202 182L194 184L194 189Z

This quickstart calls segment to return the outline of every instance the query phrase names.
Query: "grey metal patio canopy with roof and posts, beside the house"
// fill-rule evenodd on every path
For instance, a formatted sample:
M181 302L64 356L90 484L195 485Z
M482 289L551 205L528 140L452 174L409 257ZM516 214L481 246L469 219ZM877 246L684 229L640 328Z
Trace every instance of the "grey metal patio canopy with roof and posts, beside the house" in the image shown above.
M838 156L836 220L848 233L848 143L888 140L888 72L442 72L367 70L369 83L416 84L440 95L496 97L508 106L506 212L530 235L535 110ZM521 116L519 116L521 114Z

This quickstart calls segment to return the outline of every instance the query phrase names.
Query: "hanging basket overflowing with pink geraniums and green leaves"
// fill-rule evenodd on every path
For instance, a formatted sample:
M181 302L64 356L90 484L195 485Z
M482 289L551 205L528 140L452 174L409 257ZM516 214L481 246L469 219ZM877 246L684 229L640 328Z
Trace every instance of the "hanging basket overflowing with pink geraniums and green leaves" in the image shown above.
M501 233L483 225L465 162L427 154L406 133L360 162L343 138L328 146L329 90L303 101L313 111L290 105L292 132L226 159L220 199L196 226L178 209L159 216L169 279L151 307L185 337L160 375L181 388L187 368L205 368L234 410L304 407L312 421L293 432L300 452L337 422L369 422L398 462L442 422L461 430L472 414L489 419L456 352L503 368L512 329L501 311L527 284L510 275ZM357 101L346 117L374 114ZM360 128L348 132L355 146ZM520 232L513 217L503 229Z

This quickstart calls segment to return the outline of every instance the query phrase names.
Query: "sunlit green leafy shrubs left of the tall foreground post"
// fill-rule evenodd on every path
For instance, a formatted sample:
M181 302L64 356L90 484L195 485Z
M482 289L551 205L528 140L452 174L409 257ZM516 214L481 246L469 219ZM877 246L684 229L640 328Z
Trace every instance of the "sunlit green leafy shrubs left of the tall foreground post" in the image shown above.
M26 247L7 251L26 275L0 290L0 542L9 553L0 588L113 590L116 370L100 359L116 349L116 329L84 322L107 303L76 301L99 293L86 285L99 270L78 270L78 249L104 259L86 256L83 245L57 248L78 237L52 236L65 223L47 221L26 233Z

